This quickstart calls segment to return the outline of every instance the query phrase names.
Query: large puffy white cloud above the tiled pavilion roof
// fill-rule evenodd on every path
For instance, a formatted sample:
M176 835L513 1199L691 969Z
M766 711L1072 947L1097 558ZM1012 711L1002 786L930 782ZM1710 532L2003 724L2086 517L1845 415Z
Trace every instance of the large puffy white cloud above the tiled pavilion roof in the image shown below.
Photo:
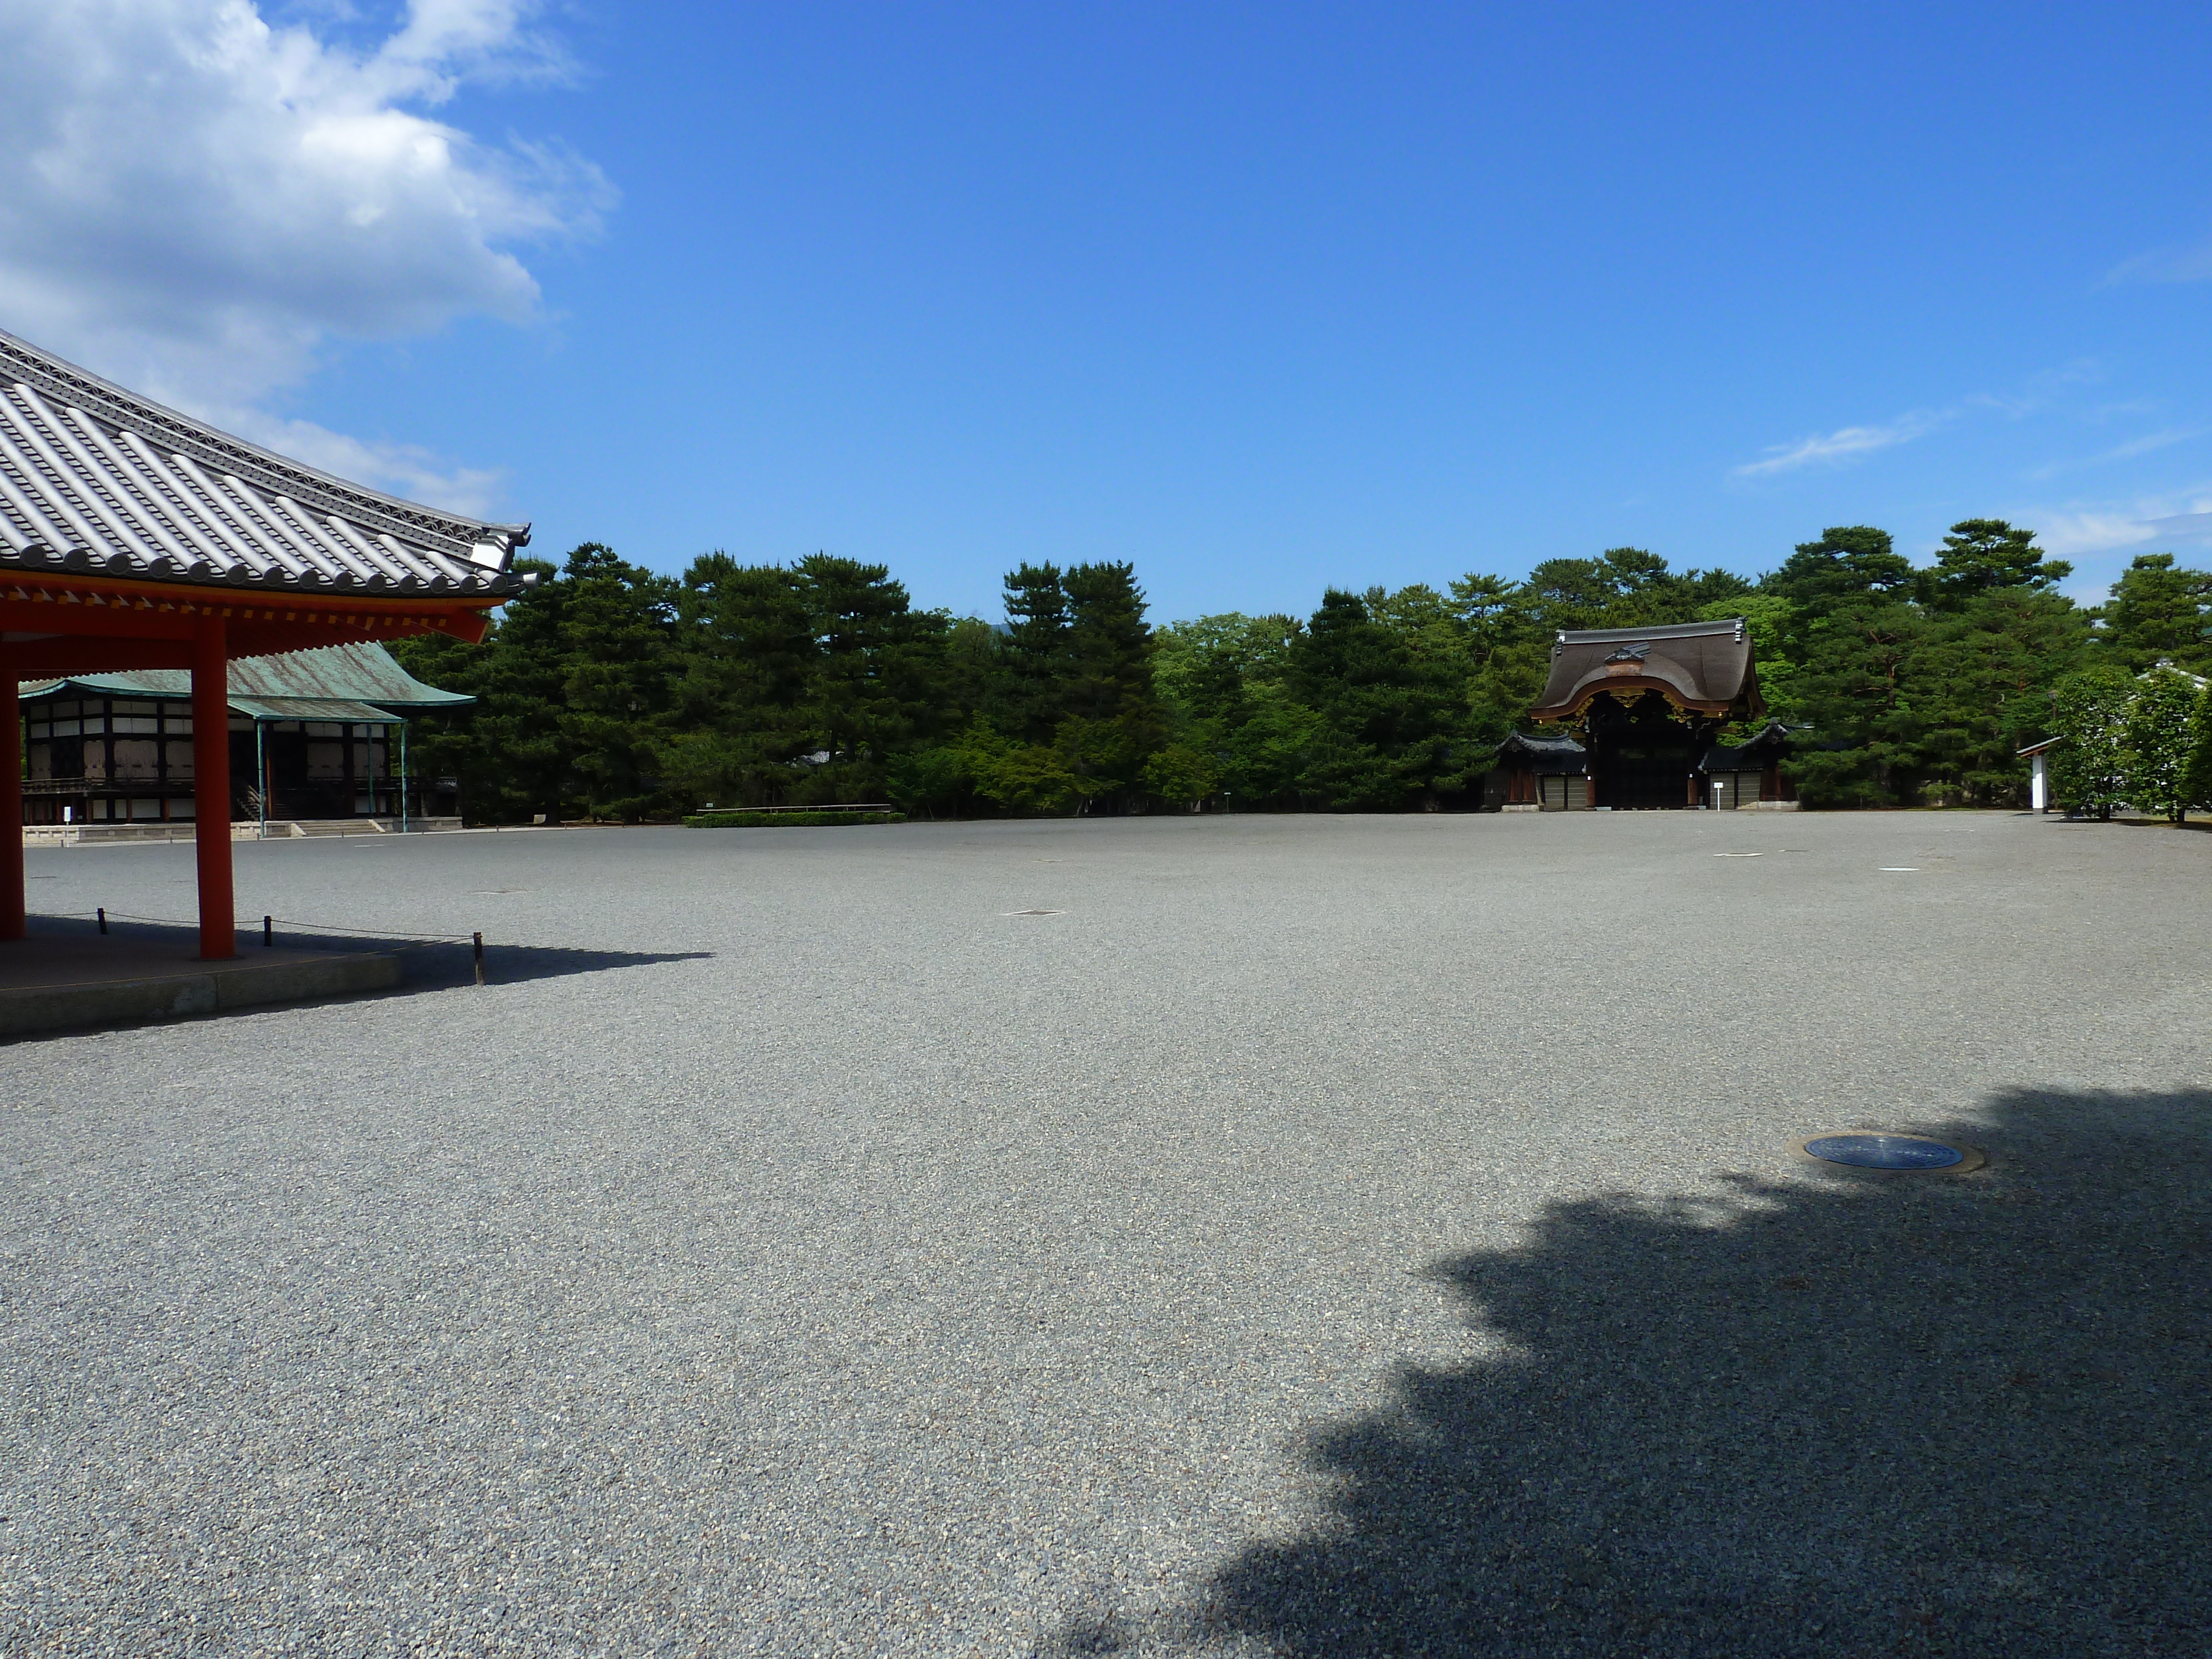
M414 0L349 46L250 0L0 0L0 325L365 482L484 498L482 473L254 405L327 341L538 314L515 246L591 232L613 190L425 113L557 75L529 24L531 0Z

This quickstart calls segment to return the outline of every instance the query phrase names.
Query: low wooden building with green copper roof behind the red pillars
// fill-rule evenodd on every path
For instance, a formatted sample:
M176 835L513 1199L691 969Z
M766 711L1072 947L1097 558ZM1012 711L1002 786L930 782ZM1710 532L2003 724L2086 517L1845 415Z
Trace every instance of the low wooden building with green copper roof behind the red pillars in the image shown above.
M24 823L190 821L190 679L181 668L126 668L22 686ZM471 701L425 686L378 644L237 661L230 816L458 816L456 779L429 779L425 787L407 770L407 717Z

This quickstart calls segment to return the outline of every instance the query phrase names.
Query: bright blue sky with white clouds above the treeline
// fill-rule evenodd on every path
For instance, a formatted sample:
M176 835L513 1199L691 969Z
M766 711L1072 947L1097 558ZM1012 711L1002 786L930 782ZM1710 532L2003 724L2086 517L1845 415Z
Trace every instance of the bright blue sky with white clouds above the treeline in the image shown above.
M1161 619L1969 515L2081 597L2212 562L2192 9L97 11L166 71L0 142L135 86L80 173L186 206L0 168L0 327L546 555L987 615L1128 557ZM0 35L0 82L88 51Z

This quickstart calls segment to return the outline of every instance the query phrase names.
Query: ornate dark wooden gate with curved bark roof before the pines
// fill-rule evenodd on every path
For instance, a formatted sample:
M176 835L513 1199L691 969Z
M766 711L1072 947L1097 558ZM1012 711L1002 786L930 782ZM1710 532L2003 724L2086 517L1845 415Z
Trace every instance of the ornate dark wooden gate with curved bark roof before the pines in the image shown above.
M1765 714L1752 657L1741 617L1559 633L1528 719L1571 734L1506 739L1491 774L1495 803L1626 812L1792 799L1781 776L1787 728L1719 741L1723 728Z

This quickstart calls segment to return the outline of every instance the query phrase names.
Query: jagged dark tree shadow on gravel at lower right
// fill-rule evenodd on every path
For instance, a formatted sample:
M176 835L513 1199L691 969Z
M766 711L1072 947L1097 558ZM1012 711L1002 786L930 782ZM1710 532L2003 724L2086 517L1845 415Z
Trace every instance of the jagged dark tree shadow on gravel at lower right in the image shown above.
M1500 1356L1316 1433L1310 1535L1044 1650L2212 1652L2212 1091L1949 1133L1991 1166L1562 1203L1438 1265Z

